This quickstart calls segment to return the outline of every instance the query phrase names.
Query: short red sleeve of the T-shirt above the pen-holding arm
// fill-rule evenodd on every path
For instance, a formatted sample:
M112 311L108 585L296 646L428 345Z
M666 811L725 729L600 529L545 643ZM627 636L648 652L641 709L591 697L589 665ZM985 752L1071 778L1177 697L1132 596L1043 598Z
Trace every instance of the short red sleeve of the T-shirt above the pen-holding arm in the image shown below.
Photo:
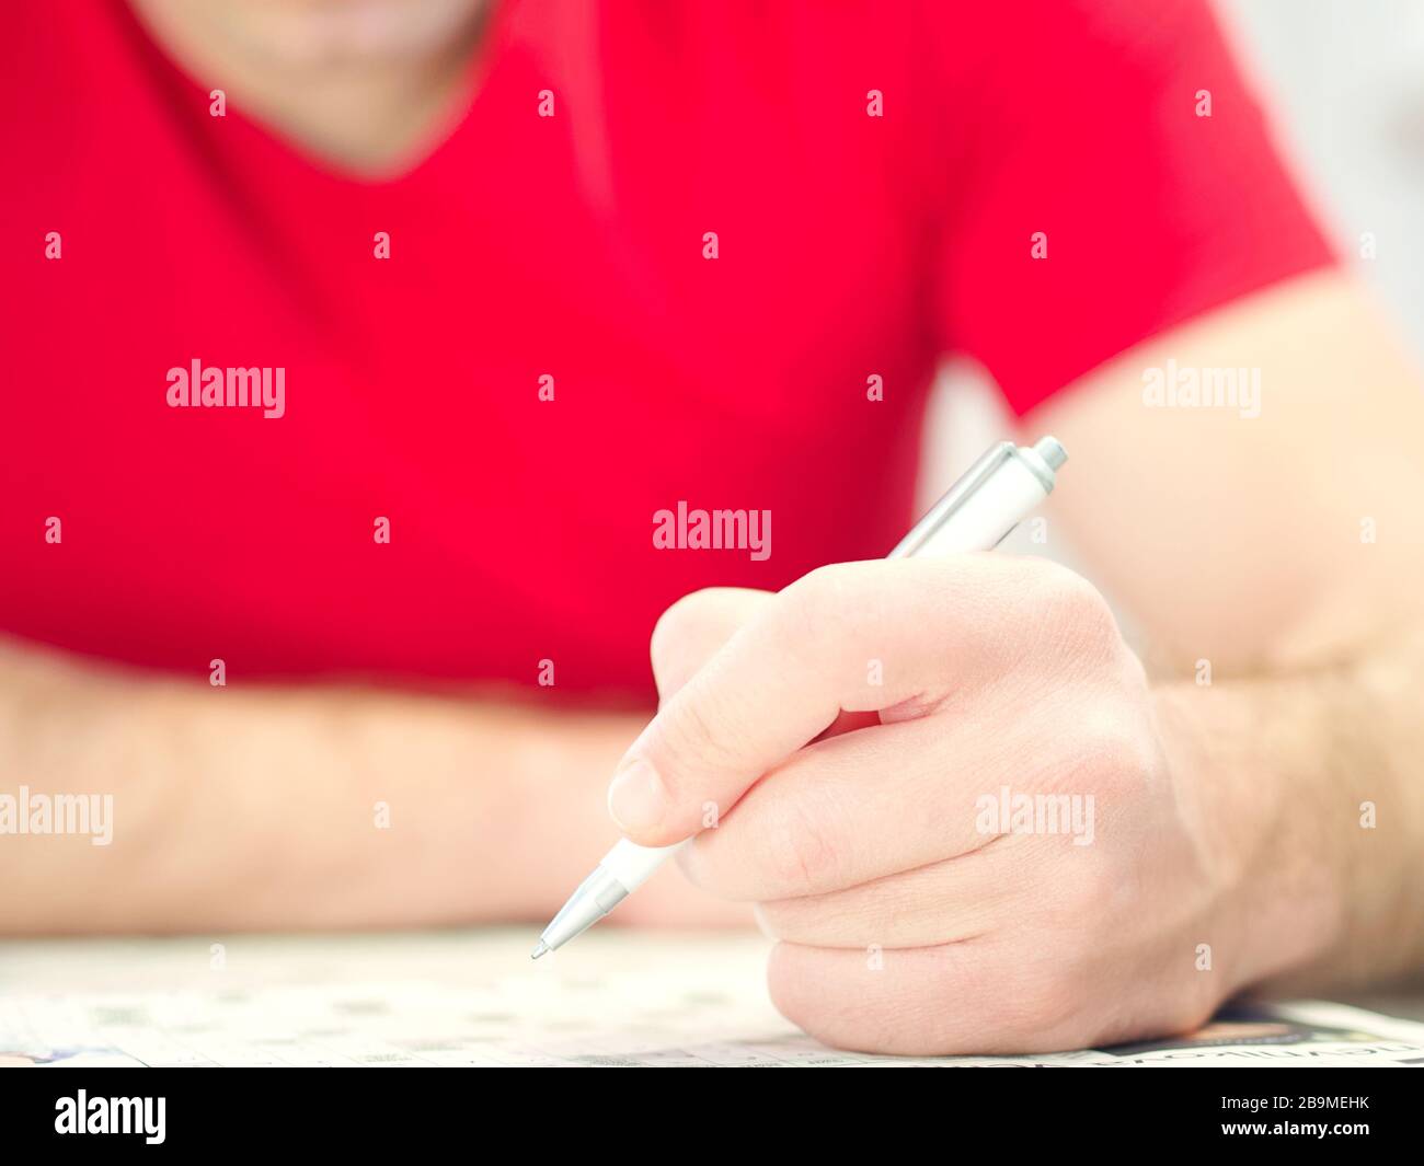
M933 6L933 53L964 54ZM1334 262L1200 0L993 6L938 91L937 339L1017 414L1122 350ZM963 31L963 28L960 28Z

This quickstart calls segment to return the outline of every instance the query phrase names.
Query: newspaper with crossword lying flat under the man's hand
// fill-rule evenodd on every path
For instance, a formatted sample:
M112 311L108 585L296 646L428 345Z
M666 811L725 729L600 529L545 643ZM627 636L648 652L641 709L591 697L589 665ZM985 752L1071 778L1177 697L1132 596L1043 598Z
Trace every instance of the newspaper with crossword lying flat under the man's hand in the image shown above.
M1424 1024L1304 1001L1032 1056L830 1049L770 1007L765 941L602 928L0 944L0 1063L124 1066L1424 1065Z

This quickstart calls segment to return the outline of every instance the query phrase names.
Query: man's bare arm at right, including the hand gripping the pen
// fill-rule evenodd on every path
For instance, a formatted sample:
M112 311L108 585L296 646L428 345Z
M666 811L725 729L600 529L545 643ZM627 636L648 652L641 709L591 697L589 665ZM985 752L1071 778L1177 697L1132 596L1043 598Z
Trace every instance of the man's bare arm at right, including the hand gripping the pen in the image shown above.
M1145 403L1146 367L1247 392ZM662 846L715 807L679 861L758 905L773 1001L849 1048L1101 1046L1415 971L1421 420L1336 276L1143 345L1032 427L1071 450L1049 514L1145 619L1155 676L1092 582L1035 558L822 568L705 663L728 598L696 592L659 622L664 700L609 809Z

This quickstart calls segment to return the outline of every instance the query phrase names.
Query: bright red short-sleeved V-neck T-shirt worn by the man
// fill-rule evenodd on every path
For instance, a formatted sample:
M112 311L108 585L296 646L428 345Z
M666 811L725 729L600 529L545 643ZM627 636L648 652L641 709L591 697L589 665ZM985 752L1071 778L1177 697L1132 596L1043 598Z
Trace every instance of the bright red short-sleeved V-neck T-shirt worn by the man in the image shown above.
M1199 3L506 3L380 182L118 0L6 17L0 626L195 676L646 695L679 595L889 551L944 353L1024 413L1330 259ZM283 416L169 406L194 360Z

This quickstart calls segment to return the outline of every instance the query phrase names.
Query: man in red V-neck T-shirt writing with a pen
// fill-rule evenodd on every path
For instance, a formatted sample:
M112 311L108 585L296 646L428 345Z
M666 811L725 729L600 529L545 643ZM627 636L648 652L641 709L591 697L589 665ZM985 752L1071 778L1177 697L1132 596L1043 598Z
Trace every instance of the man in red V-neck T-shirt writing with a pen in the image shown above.
M987 7L13 16L4 928L543 920L622 756L830 1042L1418 971L1417 376L1199 3ZM874 561L944 352L1091 582Z

